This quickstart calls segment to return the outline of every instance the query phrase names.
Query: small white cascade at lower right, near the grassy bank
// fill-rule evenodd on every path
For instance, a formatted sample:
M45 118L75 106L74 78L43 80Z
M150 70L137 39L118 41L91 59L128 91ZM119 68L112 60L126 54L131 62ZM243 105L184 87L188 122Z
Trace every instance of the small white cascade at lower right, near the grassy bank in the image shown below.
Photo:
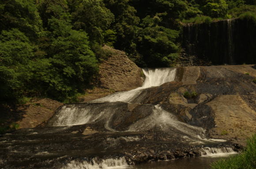
M203 157L220 157L220 156L228 156L231 154L237 154L236 151L231 147L203 147L201 151L201 155Z

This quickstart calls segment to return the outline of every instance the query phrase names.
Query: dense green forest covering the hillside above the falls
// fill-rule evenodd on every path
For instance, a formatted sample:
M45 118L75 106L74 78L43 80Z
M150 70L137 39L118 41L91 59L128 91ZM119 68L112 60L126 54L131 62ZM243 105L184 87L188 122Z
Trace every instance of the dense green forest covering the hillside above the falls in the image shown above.
M256 23L256 0L1 0L0 102L76 101L103 45L139 67L175 66L182 25L238 17Z

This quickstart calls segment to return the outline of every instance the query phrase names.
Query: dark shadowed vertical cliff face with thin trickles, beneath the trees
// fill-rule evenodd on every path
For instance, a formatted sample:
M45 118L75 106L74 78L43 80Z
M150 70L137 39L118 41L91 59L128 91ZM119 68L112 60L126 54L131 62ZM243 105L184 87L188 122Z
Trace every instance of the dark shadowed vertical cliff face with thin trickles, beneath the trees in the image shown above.
M188 55L213 64L256 63L256 24L228 19L183 27L183 47Z

